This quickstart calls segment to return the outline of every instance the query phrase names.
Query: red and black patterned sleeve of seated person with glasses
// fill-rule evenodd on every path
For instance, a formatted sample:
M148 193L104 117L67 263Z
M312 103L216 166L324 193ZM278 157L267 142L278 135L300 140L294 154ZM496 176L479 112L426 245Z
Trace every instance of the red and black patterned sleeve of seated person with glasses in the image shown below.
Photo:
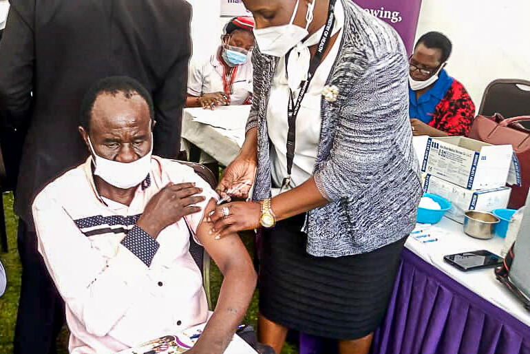
M454 80L436 105L430 126L449 136L468 136L475 116L475 105L464 86Z

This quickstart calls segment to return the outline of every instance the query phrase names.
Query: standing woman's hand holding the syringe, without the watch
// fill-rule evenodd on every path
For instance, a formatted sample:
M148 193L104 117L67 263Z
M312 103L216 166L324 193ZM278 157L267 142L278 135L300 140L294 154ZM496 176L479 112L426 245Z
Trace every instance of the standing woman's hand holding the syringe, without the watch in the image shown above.
M253 158L237 156L232 163L224 169L223 176L215 191L221 198L243 199L248 198L248 191L254 182L256 174L256 161Z

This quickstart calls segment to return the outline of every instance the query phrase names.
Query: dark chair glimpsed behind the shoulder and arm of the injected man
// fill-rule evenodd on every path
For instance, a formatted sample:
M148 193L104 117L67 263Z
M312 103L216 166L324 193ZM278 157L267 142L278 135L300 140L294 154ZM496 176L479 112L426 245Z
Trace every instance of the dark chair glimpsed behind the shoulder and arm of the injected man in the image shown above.
M195 174L198 174L203 180L213 188L217 187L215 182L215 176L213 172L200 165L200 163L189 163L187 161L178 161L183 165L187 165L195 170ZM212 309L211 304L211 294L210 294L210 255L206 252L204 247L193 240L193 237L189 236L189 253L197 263L201 273L202 273L202 286L204 287L204 292L206 292L206 300L208 300L208 308Z

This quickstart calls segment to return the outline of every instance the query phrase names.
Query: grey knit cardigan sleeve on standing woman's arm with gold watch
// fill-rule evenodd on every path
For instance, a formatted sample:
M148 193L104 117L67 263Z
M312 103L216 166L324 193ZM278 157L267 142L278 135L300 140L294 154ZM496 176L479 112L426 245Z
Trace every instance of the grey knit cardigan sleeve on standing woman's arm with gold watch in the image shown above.
M399 146L412 138L405 55L385 54L365 66L343 99L330 156L313 174L328 200L355 198L385 171L395 172L403 160Z

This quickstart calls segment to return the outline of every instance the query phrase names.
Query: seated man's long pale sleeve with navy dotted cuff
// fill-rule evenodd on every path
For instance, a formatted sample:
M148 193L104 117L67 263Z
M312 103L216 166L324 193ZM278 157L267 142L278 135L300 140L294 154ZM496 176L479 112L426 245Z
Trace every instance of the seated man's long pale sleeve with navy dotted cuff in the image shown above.
M150 236L137 227L112 257L104 256L48 189L36 197L33 217L39 252L65 303L89 333L106 335L135 295L147 289L147 270L158 242L148 240Z

